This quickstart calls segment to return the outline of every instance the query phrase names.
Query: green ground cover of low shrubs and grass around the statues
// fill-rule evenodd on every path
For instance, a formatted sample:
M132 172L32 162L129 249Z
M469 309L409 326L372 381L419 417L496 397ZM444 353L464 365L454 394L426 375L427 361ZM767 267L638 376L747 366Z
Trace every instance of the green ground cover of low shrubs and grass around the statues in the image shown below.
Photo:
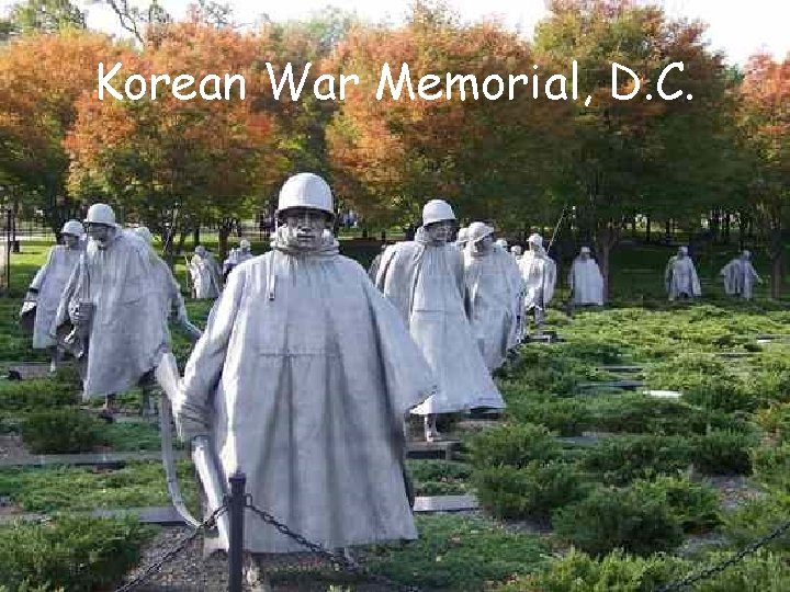
M377 250L351 242L345 248L365 263ZM0 340L0 361L44 361L16 329L14 315L46 248L24 243L23 250L14 261L18 298L0 303L0 334L8 338ZM665 301L662 273L672 249L616 251L612 306L573 318L552 310L550 328L564 341L524 345L499 374L508 403L503 424L465 435L464 463L408 462L417 494L473 492L483 515L419 517L418 542L369 549L369 566L428 589L647 591L726 557L786 520L790 344L758 344L756 337L790 333L790 309L761 297L749 304L724 298L715 274L730 251L703 257L706 298L691 305ZM756 263L759 269L760 260ZM185 289L182 262L176 271ZM558 299L563 296L561 289ZM210 303L188 307L203 326ZM190 344L174 333L173 348L183 364ZM742 356L722 356L733 352ZM621 375L601 368L612 364L643 369ZM678 390L682 397L582 388L618 378L643 379L645 388ZM19 430L11 420L42 408L70 409L77 390L68 376L0 383L0 425ZM133 409L137 397L125 394L121 401ZM104 428L109 444L103 445L114 449L159 446L156 426ZM555 440L582 434L599 440L588 445ZM189 463L179 469L182 485L194 482ZM711 485L721 478L746 480L753 496L726 499ZM187 494L194 505L192 485ZM98 474L4 469L0 496L24 510L47 512L168 502L158 463ZM524 534L523 523L537 524L542 534ZM702 543L687 550L684 544L699 536ZM708 538L716 540L715 548ZM790 590L790 536L768 547L699 590Z

